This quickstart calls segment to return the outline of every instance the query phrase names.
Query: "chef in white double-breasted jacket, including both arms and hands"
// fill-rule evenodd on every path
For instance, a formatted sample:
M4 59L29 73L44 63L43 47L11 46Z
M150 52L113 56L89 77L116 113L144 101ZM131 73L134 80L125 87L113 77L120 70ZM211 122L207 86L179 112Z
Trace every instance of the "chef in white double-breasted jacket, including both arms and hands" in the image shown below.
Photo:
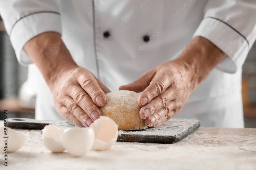
M19 63L33 70L36 107L45 103L38 120L88 127L105 93L132 90L151 127L170 117L244 126L241 71L256 1L2 0L0 8Z

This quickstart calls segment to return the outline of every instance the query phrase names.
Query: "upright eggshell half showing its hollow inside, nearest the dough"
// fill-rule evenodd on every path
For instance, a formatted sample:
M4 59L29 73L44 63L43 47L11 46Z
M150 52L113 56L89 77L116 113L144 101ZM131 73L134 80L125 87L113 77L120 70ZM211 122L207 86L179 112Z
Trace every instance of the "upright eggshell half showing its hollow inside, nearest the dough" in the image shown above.
M97 150L109 149L117 140L118 126L107 116L100 116L91 126L94 129L93 148Z

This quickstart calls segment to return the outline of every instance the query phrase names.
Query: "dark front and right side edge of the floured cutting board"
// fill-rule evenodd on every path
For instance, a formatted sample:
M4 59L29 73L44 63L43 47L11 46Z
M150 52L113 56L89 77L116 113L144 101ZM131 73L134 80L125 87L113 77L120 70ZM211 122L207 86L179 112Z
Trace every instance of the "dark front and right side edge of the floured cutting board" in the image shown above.
M127 134L118 134L117 141L120 142L143 142L143 143L176 143L191 133L193 133L200 123L194 123L188 130L177 136L128 136Z

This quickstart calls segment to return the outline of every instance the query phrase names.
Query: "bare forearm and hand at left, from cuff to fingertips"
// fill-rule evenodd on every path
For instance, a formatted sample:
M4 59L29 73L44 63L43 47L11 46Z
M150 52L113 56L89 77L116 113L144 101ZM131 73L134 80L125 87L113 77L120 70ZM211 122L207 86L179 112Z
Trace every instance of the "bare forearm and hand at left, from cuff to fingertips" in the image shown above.
M55 50L50 53L49 49ZM102 115L99 107L106 103L105 93L110 90L89 70L77 66L60 34L39 34L25 44L24 50L44 76L56 109L67 121L88 127Z

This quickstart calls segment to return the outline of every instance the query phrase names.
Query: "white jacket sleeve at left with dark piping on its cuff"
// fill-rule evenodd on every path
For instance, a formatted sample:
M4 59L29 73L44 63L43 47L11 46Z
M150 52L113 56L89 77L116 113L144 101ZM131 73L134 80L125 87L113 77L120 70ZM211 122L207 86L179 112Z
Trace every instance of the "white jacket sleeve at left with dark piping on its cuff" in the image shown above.
M23 46L47 31L61 33L60 13L53 0L1 0L0 14L20 64L32 63Z

